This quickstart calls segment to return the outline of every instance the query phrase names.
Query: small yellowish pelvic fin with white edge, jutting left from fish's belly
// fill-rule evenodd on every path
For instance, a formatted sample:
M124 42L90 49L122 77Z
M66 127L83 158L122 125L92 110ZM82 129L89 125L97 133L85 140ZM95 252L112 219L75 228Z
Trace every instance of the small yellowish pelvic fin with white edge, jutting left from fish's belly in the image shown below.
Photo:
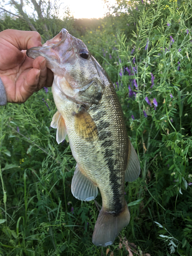
M64 119L58 111L53 115L51 127L57 129L56 141L58 144L65 140L67 135L66 125Z

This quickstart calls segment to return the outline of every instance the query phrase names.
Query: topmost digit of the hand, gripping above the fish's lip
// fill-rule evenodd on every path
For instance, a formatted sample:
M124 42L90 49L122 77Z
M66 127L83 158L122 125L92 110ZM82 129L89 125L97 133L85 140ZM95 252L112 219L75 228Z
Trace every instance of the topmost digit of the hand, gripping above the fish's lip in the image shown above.
M19 50L27 50L34 46L41 46L41 37L36 31L7 29L1 32L1 37Z

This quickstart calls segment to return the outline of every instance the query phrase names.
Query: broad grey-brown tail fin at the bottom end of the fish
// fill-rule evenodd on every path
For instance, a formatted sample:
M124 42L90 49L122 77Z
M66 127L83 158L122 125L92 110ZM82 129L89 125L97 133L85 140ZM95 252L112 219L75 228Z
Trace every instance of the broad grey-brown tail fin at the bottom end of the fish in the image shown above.
M127 205L118 216L113 216L101 208L93 232L93 244L104 247L112 245L121 229L128 225L129 222L130 211Z

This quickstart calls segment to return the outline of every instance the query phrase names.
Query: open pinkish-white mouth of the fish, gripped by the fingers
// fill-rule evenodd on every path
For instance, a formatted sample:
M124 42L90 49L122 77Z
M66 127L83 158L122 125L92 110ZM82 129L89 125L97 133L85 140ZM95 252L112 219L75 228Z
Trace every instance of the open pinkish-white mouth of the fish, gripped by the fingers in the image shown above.
M69 32L67 29L62 29L55 37L48 40L44 45L28 49L26 52L27 56L33 59L38 56L45 57L46 60L48 60L48 68L51 68L49 67L49 62L53 62L54 60L60 62L59 54L55 51L55 48L65 42L68 34Z

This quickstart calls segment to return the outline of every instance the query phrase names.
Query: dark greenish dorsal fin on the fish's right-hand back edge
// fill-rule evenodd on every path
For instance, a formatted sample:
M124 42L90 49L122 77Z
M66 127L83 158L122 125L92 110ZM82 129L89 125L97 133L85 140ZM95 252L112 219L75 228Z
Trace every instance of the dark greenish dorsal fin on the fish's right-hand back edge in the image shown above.
M129 141L129 154L125 170L125 181L134 181L140 174L140 163L132 143Z

